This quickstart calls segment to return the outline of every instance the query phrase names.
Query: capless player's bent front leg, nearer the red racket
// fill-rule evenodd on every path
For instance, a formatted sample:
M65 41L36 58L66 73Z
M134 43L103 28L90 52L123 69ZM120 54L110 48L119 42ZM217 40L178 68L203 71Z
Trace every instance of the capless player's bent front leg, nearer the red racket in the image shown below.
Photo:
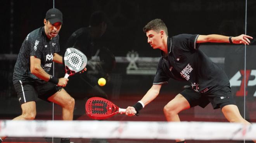
M168 104L164 106L164 115L167 121L176 121L180 122L180 118L178 116L178 113L180 111L189 109L190 104L185 99L182 94L178 94L175 96L174 99L172 99ZM185 139L176 139L176 142L178 141L184 141Z

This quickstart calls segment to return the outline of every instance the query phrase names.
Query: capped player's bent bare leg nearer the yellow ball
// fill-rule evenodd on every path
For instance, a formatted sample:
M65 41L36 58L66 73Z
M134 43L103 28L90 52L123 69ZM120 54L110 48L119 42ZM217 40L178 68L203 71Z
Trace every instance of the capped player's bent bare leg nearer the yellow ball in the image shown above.
M74 98L72 98L65 89L61 89L54 95L48 98L49 101L56 103L62 107L62 119L63 120L73 120L74 112Z

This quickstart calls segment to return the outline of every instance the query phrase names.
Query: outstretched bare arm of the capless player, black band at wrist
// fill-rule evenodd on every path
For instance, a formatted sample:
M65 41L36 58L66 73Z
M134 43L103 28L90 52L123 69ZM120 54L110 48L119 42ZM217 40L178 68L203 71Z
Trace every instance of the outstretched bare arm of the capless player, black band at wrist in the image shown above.
M253 37L248 35L239 35L237 37L228 37L223 35L199 35L196 43L205 43L205 42L213 42L213 43L230 43L230 40L234 44L247 44L251 43L249 39L253 39Z

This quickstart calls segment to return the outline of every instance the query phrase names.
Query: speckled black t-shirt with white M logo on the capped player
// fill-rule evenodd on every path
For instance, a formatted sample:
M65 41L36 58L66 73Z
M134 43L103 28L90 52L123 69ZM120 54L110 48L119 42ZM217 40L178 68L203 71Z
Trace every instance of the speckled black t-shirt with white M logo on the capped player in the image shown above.
M44 27L32 31L21 45L14 66L12 81L15 83L19 80L31 81L39 79L30 72L30 56L40 59L41 67L45 72L49 73L53 67L53 55L59 50L59 35L49 40L45 35Z

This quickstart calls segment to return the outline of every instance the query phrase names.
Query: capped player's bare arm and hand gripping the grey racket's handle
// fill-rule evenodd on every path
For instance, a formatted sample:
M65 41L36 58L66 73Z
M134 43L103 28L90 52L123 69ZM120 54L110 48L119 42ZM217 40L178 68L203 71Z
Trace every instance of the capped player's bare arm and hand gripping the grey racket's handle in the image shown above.
M30 72L44 81L49 81L51 78L51 75L45 72L41 67L41 60L35 56L30 56ZM60 78L59 82L56 82L55 84L58 86L66 86L67 81L67 78Z

